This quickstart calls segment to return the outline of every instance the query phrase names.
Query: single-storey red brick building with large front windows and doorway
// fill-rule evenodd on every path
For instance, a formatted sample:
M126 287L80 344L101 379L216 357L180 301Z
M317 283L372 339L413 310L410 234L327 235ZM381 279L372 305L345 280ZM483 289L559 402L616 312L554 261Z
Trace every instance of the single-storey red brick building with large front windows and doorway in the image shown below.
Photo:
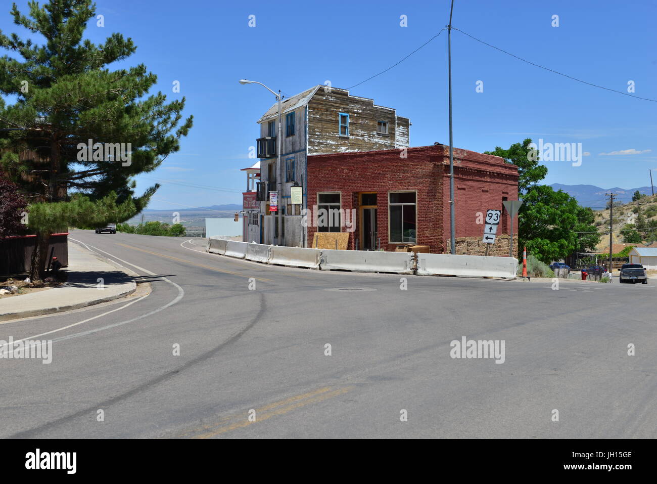
M417 244L430 246L432 253L449 250L448 146L311 155L307 163L308 241L317 230L350 231L348 249L394 251ZM515 165L454 149L454 191L457 238L480 239L491 208L503 210L497 235L509 233L502 202L518 199ZM329 216L333 226L322 223L322 208L342 209L340 222ZM515 233L517 228L514 220Z

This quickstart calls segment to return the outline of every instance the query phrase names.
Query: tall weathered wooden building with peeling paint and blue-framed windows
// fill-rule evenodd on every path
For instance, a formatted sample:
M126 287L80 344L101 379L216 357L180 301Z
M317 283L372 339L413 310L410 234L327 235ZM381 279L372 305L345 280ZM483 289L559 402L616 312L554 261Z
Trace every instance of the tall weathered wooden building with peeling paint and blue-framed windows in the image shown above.
M307 230L302 226L301 210L307 208L307 157L350 151L401 149L409 146L408 118L397 116L396 110L377 106L373 99L350 95L346 89L315 85L311 89L284 99L281 108L283 193L279 194L279 210L283 226L269 212L269 192L277 191L278 103L261 118L258 158L261 160L257 199L260 202L258 230L248 227L250 237L259 233L260 243L291 247L307 246ZM292 205L290 188L303 188L302 204ZM272 220L272 219L276 220ZM271 225L275 224L271 239Z

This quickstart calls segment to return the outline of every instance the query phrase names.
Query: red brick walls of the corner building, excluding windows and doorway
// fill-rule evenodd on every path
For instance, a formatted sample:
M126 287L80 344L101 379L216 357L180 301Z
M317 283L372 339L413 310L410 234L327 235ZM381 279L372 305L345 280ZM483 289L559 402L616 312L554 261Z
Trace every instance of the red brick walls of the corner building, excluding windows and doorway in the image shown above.
M363 247L359 193L377 192L377 223L381 247L394 251L388 241L388 192L417 191L417 244L432 253L444 253L449 239L449 148L444 145L335 153L308 157L307 206L317 205L317 193L342 193L342 208L356 210L356 230L350 233L349 249ZM457 237L481 237L488 208L501 210L502 197L518 199L518 172L502 158L463 149L454 150L455 230ZM508 224L507 224L508 225ZM517 220L514 222L517 228ZM504 230L506 229L506 230ZM312 241L316 228L308 227ZM345 231L343 228L342 231ZM508 233L500 225L498 234ZM509 247L507 245L507 254Z

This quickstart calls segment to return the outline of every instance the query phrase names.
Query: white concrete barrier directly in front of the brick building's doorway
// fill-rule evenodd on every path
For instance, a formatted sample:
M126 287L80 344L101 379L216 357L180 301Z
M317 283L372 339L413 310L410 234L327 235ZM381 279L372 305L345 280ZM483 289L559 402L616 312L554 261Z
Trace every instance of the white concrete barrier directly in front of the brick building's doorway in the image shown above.
M321 249L321 270L413 274L413 253Z

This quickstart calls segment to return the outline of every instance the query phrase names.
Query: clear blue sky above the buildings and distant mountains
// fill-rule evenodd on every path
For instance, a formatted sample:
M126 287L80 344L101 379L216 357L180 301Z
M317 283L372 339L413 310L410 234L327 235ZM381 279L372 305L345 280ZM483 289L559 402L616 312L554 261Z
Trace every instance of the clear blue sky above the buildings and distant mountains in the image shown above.
M26 0L17 2L26 12ZM0 28L18 32L3 1ZM449 0L254 1L98 0L104 27L132 37L158 76L156 89L185 96L194 128L181 150L155 172L137 178L141 191L162 183L149 208L241 203L254 162L249 147L256 120L274 103L248 78L294 95L330 81L350 87L392 66L438 33ZM248 26L248 16L256 26ZM553 15L559 26L551 26ZM407 16L407 27L400 16ZM453 26L529 61L593 84L657 99L657 1L456 0ZM545 183L603 188L649 185L657 169L657 103L580 84L518 61L461 32L452 34L454 145L487 151L525 137L544 143L582 143L581 166L545 162ZM172 92L179 81L180 93ZM477 81L484 92L476 92ZM153 90L152 92L155 92ZM448 143L447 32L392 70L351 89L411 119L411 146ZM618 153L600 155L600 153ZM657 176L657 172L653 174ZM194 186L190 186L194 185Z

